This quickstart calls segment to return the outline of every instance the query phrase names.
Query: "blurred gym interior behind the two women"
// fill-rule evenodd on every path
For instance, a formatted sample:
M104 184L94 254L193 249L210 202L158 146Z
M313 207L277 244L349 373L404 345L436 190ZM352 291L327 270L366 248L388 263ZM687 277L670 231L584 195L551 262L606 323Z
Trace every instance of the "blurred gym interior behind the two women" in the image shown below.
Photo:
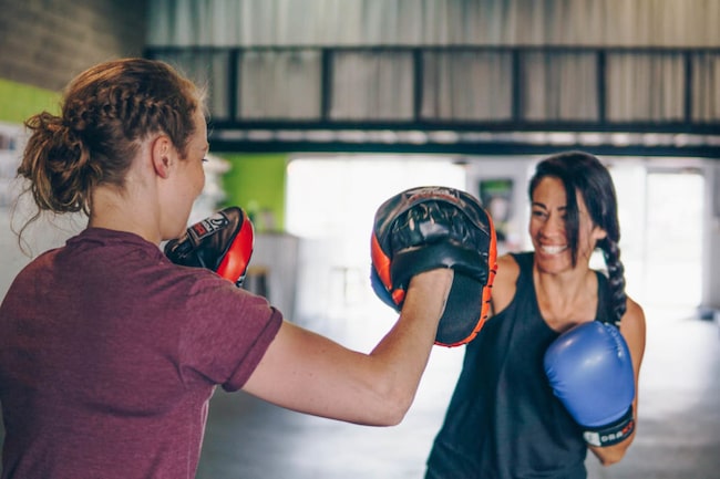
M637 439L611 468L588 458L590 477L718 477L720 2L0 0L0 298L30 261L13 232L32 214L16 202L22 122L59 111L64 85L101 61L164 60L207 88L210 162L191 222L245 208L246 288L360 351L395 319L369 284L385 198L465 189L501 250L518 251L534 164L585 149L613 174L627 289L648 320ZM23 247L84 223L45 218ZM420 478L462 353L433 351L394 428L217 393L198 478Z

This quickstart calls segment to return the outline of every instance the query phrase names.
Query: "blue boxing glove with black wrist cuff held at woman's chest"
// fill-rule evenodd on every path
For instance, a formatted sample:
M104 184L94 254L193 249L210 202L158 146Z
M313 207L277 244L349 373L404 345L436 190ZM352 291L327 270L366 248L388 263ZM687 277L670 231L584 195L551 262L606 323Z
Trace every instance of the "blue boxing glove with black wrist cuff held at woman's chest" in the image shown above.
M611 324L592 321L560 334L545 352L555 396L592 446L611 446L635 429L635 375L625 339Z

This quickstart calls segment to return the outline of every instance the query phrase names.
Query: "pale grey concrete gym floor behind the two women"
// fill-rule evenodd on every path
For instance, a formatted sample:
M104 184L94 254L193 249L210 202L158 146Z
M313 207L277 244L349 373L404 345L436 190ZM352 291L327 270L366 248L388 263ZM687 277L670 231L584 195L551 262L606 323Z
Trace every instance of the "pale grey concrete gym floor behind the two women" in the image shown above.
M636 440L609 468L589 455L588 477L720 478L720 329L691 312L647 315ZM361 322L317 326L339 341L354 342L362 334ZM218 392L197 478L419 479L461 357L460 350L435 348L411 412L393 428L304 416L241 393Z

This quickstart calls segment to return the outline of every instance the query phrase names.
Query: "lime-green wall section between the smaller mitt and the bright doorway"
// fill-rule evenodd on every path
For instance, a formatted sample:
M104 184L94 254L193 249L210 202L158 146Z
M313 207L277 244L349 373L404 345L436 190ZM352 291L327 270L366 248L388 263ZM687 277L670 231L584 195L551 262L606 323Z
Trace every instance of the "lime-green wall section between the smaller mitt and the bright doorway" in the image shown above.
M245 209L258 232L285 231L287 154L223 154L230 170L223 176L224 206Z

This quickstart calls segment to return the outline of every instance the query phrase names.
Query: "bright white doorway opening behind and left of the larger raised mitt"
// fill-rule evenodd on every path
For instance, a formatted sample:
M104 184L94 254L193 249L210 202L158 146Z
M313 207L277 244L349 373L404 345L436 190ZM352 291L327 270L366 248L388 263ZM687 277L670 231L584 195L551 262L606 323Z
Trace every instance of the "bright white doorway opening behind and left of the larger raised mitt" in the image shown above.
M370 285L374 214L391 196L429 185L464 189L465 169L450 157L414 155L298 157L289 163L286 225L301 238L298 321L311 321L316 331L331 335L325 325L354 319L372 335L387 331L397 314Z

